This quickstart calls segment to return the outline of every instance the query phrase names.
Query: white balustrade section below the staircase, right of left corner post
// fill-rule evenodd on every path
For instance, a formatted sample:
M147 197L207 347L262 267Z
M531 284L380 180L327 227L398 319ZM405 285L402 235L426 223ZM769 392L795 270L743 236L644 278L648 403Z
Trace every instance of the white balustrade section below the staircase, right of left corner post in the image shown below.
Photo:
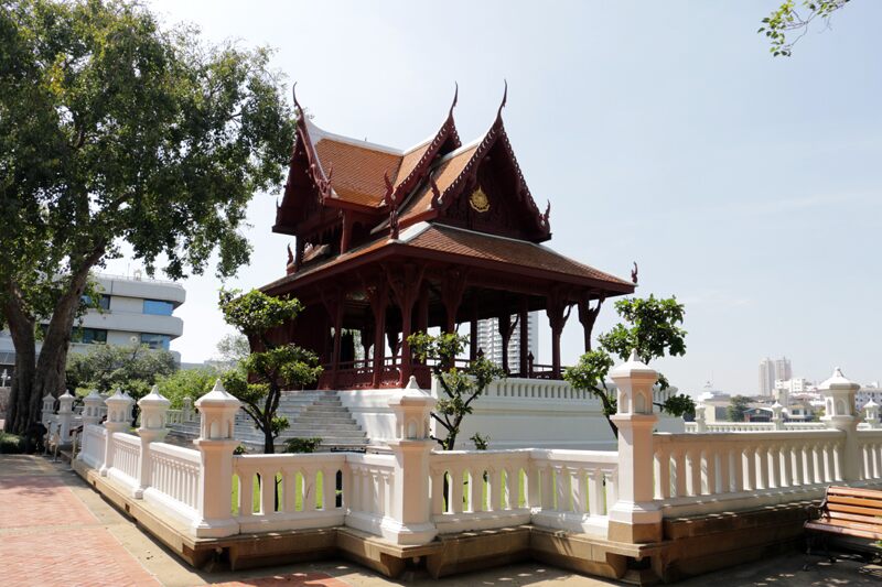
M239 455L233 457L234 511L241 532L343 524L337 504L346 455ZM218 488L223 491L223 488ZM338 492L340 491L340 492ZM342 498L341 498L342 500Z

